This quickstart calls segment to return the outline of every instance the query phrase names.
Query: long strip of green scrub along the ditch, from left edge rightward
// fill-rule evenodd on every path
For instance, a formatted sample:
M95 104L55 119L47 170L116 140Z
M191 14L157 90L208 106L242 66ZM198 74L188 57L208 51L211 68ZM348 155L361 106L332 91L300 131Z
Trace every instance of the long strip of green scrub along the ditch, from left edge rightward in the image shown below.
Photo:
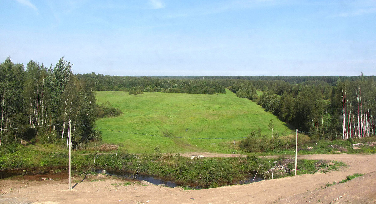
M27 148L0 156L0 174L21 169L50 169L68 166L67 152L42 152ZM318 160L298 160L298 174L329 171L342 163ZM76 154L72 156L73 174L88 169L102 169L115 175L146 180L145 176L162 182L173 182L167 186L211 188L232 184L252 183L270 178L294 175L294 160L284 158L229 157L194 158L179 154L133 155L123 152L103 154ZM56 170L53 170L56 171ZM23 171L24 172L24 171ZM61 172L59 170L59 172ZM137 177L136 177L137 175ZM153 183L153 182L151 182ZM157 183L158 184L158 183ZM164 183L161 183L164 184Z

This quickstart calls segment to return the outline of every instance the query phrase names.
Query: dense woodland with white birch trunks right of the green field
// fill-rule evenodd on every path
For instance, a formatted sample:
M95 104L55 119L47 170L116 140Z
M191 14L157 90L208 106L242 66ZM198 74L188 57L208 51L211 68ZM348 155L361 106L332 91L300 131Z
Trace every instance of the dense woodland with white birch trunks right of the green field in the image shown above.
M221 84L229 86L239 97L257 101L265 111L279 116L293 128L315 135L317 139L373 135L376 121L375 77L337 77L335 82L326 82L328 78L312 77L315 81L294 79L293 83L224 79ZM290 81L291 78L287 79ZM304 82L296 84L296 81ZM263 91L261 96L255 94L256 89Z

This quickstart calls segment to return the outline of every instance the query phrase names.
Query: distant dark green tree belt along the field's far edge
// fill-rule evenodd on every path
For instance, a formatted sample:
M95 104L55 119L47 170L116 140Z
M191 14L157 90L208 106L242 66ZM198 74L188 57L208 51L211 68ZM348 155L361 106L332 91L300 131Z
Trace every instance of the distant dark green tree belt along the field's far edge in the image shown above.
M102 74L77 74L95 84L98 91L132 91L215 94L226 93L224 86L213 79L159 79L155 77L110 76ZM133 94L133 91L132 91Z

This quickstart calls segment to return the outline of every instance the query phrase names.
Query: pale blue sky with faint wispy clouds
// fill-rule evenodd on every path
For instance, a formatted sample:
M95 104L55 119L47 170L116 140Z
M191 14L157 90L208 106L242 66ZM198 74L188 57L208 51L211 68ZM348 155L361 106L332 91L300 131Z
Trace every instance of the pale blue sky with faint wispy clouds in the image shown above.
M0 60L129 76L376 75L376 1L0 1Z

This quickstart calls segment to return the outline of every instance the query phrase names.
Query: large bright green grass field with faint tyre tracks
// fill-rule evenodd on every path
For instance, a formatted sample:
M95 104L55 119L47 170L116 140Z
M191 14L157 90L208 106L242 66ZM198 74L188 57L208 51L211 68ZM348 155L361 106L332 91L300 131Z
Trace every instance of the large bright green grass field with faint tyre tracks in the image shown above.
M271 135L267 126L274 119L274 132L291 132L286 123L264 111L256 102L226 94L180 94L155 93L129 95L125 91L97 91L97 104L109 101L120 108L119 117L97 120L102 130L103 143L119 144L129 152L228 152L221 145L241 139L217 139L246 137L251 131L261 128L261 133ZM137 135L125 132L159 135ZM167 136L167 137L165 137ZM184 139L174 137L210 138ZM270 136L271 137L271 136Z

